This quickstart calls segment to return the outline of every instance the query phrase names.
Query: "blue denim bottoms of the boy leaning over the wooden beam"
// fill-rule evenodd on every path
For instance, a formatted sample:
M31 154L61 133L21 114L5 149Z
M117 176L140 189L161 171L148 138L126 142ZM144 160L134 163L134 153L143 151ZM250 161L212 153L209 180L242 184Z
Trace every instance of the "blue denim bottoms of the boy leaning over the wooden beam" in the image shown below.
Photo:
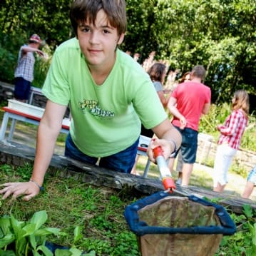
M133 143L133 145L130 145L130 147L126 148L125 150L100 158L98 165L102 168L116 170L121 173L130 173L135 163L138 142L139 138L135 141L135 143ZM93 165L95 165L98 161L98 158L86 155L81 152L81 150L79 150L73 143L70 133L68 133L66 138L65 155L68 158L73 158L83 163L89 163Z

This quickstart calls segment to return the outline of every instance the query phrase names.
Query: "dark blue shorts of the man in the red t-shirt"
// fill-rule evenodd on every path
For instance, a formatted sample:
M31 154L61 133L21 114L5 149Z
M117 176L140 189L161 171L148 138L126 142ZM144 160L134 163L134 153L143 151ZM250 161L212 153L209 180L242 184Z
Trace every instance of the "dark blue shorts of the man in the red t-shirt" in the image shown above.
M196 152L198 150L198 131L190 128L181 130L175 126L182 135L182 142L180 146L181 155L184 163L195 163Z

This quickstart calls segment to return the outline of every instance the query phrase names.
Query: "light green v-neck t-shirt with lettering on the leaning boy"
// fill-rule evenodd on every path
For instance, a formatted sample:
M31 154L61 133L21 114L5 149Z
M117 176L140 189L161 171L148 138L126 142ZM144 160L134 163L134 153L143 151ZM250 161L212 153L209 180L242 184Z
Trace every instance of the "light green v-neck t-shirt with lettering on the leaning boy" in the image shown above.
M111 73L97 86L77 39L58 46L42 91L54 103L69 105L73 143L95 157L132 145L140 135L140 120L146 128L153 128L167 118L152 81L139 63L117 50Z

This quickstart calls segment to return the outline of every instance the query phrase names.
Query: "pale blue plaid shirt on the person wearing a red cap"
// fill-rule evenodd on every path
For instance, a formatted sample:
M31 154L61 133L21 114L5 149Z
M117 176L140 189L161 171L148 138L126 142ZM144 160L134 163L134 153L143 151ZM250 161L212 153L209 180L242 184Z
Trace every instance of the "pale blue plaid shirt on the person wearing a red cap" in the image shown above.
M23 54L20 49L18 66L16 67L14 77L22 77L26 81L32 82L34 80L34 64L34 53L27 52L26 54Z

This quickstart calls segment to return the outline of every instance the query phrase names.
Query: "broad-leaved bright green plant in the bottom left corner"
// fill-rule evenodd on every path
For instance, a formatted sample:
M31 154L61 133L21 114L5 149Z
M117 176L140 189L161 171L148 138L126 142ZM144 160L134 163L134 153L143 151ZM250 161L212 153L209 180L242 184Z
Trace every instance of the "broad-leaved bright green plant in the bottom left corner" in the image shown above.
M34 213L29 221L19 221L11 215L0 217L0 254L28 256L31 252L35 256L46 255L53 256L51 250L46 246L46 237L48 235L63 235L61 230L55 227L43 227L48 216L45 210ZM81 239L81 230L79 227L74 231L74 242ZM56 256L95 256L91 251L86 254L76 247L70 249L57 249Z

